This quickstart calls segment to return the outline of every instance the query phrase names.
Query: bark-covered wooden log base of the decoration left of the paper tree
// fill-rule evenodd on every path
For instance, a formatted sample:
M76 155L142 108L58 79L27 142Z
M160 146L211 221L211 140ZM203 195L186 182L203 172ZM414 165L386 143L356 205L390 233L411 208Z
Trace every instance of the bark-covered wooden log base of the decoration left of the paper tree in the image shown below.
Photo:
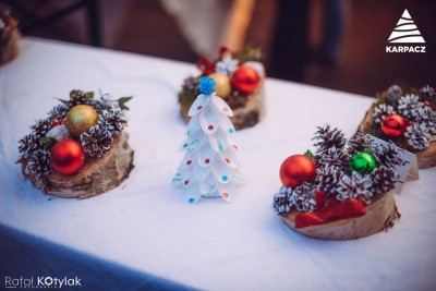
M45 194L63 198L88 198L119 186L133 168L134 151L128 143L129 134L123 132L114 138L109 153L98 159L87 158L85 166L73 175L56 171L47 177L26 172L33 185Z

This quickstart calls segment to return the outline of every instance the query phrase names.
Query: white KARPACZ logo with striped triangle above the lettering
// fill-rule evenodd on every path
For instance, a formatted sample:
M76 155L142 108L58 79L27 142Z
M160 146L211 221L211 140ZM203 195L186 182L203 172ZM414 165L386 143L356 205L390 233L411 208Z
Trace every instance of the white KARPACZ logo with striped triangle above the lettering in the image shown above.
M420 31L405 9L389 36L390 44L425 44ZM425 52L425 46L386 46L386 52Z

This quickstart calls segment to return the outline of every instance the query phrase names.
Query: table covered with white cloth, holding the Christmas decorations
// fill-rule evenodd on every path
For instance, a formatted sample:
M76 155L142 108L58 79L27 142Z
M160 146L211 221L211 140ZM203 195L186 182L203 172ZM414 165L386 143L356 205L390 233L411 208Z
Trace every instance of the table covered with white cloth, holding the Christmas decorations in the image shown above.
M193 64L24 39L20 57L0 68L3 232L12 241L16 235L16 243L23 233L31 245L53 243L81 254L84 265L92 255L207 290L436 290L436 168L420 171L421 179L396 195L402 214L396 226L365 239L308 239L287 229L270 208L283 159L312 148L316 125L329 122L351 136L371 98L267 80L265 120L235 135L247 185L232 204L190 205L170 181L185 132L177 93L191 73ZM50 199L23 180L14 163L17 141L57 104L53 97L66 98L73 88L134 95L128 114L135 168L104 195ZM15 264L38 264L32 247L20 252L25 255L13 254Z

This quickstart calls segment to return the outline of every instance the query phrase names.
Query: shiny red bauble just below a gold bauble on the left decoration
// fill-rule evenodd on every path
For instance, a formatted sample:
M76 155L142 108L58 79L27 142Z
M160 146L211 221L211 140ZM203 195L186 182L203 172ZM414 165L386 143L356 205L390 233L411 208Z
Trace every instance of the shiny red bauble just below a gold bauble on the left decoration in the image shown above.
M73 174L85 163L85 153L76 141L63 140L51 148L50 161L61 174Z

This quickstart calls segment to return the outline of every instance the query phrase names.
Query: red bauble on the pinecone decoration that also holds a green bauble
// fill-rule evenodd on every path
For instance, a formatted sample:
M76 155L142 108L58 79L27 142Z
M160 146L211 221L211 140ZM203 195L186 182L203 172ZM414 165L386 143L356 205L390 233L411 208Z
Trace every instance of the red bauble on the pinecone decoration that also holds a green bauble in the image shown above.
M315 179L315 162L304 155L287 158L280 167L280 180L284 186L299 186Z

